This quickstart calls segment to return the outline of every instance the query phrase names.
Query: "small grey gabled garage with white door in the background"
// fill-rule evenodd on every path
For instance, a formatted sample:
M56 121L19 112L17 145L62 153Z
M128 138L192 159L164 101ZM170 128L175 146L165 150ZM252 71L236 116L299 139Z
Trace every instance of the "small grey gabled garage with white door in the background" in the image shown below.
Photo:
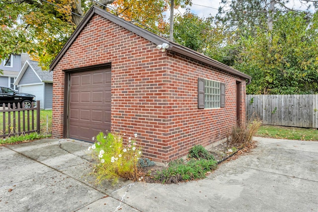
M25 61L14 85L21 93L35 95L41 109L52 109L53 73L42 71L37 61Z

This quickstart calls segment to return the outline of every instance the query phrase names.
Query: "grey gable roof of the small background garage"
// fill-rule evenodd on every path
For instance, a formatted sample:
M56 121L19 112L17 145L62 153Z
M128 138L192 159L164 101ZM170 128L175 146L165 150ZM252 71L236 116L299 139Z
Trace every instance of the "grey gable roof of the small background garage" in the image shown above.
M53 83L53 72L52 71L42 71L41 67L38 66L39 62L37 61L25 61L19 75L16 77L14 84L18 85L22 79L23 74L28 69L31 68L34 71L35 75L39 78L41 82L52 82Z

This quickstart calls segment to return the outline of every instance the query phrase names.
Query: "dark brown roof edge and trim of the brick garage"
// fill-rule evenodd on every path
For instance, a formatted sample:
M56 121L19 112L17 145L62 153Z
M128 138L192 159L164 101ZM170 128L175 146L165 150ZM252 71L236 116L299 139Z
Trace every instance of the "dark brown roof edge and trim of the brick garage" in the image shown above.
M75 39L78 37L79 33L81 32L81 30L86 26L86 24L90 21L91 17L94 14L98 14L116 24L118 24L119 26L155 43L156 45L159 44L163 44L163 43L167 43L169 45L168 50L172 51L172 52L176 52L179 53L181 55L187 56L189 58L192 58L194 60L200 61L204 64L210 65L220 71L226 72L226 73L230 73L232 75L238 76L240 78L243 79L248 79L248 81L250 82L251 77L245 73L242 73L236 69L233 69L223 63L220 63L219 61L216 61L214 59L211 59L205 55L202 55L199 52L193 51L187 47L184 47L180 44L171 42L170 40L160 37L159 35L156 35L148 30L145 30L141 27L138 27L120 17L117 17L109 12L107 12L106 10L103 10L101 8L98 8L96 6L92 6L89 11L87 11L85 17L83 18L83 20L81 21L81 23L79 24L79 26L77 27L77 29L74 31L74 33L71 35L71 37L69 38L69 40L67 41L67 43L63 46L62 50L60 51L60 53L56 56L56 58L52 61L51 65L50 65L50 71L54 70L55 66L57 65L57 63L59 62L59 60L63 57L63 55L66 53L66 51L69 49L69 47L72 45L72 43L75 41Z

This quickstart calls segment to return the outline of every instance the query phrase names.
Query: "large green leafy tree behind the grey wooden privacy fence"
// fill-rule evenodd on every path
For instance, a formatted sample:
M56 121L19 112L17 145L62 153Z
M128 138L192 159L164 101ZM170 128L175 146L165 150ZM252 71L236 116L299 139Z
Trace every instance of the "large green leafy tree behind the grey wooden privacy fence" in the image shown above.
M249 94L318 93L318 14L277 15L271 38L260 27L242 37L235 68L252 76Z

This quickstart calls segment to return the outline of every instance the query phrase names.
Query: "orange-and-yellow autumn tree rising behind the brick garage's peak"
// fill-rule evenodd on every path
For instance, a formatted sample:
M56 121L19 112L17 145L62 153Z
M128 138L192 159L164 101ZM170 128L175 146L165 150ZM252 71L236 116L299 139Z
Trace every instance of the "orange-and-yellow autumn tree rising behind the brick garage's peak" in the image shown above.
M114 2L114 3L113 3ZM178 0L187 4L190 0ZM167 0L3 0L0 1L0 59L28 52L48 69L92 3L158 31ZM137 21L137 22L135 22ZM146 27L147 29L150 29Z

